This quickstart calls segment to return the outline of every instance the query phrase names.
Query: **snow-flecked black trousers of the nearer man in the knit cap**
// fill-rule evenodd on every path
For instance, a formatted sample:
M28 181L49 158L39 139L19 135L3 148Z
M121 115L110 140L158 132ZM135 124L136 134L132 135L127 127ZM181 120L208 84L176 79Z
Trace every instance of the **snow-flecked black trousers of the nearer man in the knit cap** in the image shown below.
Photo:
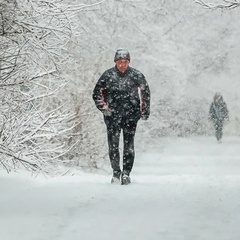
M105 117L108 135L109 158L115 174L121 173L119 140L123 132L123 172L130 174L135 157L134 136L138 120L129 120L126 117Z

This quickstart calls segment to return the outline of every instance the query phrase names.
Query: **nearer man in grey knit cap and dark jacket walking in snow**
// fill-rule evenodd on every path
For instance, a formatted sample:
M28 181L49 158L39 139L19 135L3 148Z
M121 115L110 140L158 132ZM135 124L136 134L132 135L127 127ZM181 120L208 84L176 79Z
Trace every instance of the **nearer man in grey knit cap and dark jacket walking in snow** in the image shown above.
M144 75L129 66L130 54L118 49L115 66L106 70L93 90L96 107L107 127L109 158L113 169L111 183L131 183L135 151L134 136L140 118L150 114L150 89ZM120 168L119 140L123 131L123 167Z

